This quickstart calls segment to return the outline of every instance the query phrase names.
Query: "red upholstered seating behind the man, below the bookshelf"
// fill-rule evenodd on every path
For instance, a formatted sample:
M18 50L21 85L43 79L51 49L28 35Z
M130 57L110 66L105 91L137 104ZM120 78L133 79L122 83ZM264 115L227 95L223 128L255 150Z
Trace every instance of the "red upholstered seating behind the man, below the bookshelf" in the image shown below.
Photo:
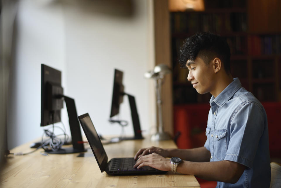
M269 150L271 158L281 159L281 103L262 103L268 119ZM197 148L206 141L205 130L207 126L210 104L185 104L174 106L174 133L180 135L176 143L178 148ZM201 188L213 188L216 182L198 178Z

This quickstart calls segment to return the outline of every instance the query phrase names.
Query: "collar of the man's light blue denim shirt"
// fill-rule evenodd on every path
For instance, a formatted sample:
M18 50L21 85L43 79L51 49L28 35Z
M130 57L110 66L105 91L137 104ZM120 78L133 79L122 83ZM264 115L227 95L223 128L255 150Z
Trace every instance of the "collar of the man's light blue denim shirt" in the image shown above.
M215 102L218 106L222 107L233 95L241 88L241 82L238 78L234 78L233 81L215 98L210 99L210 105Z

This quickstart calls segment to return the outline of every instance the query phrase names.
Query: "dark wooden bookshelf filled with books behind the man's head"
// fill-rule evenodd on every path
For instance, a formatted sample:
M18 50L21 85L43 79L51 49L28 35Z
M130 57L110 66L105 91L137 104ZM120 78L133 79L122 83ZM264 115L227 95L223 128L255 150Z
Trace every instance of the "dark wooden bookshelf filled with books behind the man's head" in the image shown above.
M208 103L210 94L197 94L187 80L188 70L178 63L179 48L197 32L210 31L227 40L231 50L231 72L242 87L260 101L280 101L281 32L253 31L249 28L248 2L242 0L205 1L205 11L170 12L173 67L173 102Z

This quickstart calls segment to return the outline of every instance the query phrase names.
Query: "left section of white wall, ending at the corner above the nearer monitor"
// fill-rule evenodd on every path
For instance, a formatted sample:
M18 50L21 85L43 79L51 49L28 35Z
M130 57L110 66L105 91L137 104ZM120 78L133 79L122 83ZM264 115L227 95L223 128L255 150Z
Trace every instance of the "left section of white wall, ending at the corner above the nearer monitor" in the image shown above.
M19 1L8 95L8 148L42 136L41 63L66 70L61 6ZM63 74L62 84L66 85Z

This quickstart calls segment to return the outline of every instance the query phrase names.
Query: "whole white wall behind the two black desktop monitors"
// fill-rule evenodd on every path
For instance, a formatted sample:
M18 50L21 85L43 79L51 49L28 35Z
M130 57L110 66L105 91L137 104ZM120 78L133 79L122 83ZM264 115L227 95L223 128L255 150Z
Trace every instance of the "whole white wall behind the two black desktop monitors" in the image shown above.
M116 8L114 2L19 1L8 100L9 149L42 136L41 63L62 71L64 92L75 99L78 115L88 112L103 135L121 133L108 118L114 68L124 71L125 91L136 97L141 128L149 133L155 105L152 80L143 73L154 64L151 3L124 0ZM127 98L120 110L119 118L129 121L126 133L133 134ZM62 116L69 133L65 108Z

